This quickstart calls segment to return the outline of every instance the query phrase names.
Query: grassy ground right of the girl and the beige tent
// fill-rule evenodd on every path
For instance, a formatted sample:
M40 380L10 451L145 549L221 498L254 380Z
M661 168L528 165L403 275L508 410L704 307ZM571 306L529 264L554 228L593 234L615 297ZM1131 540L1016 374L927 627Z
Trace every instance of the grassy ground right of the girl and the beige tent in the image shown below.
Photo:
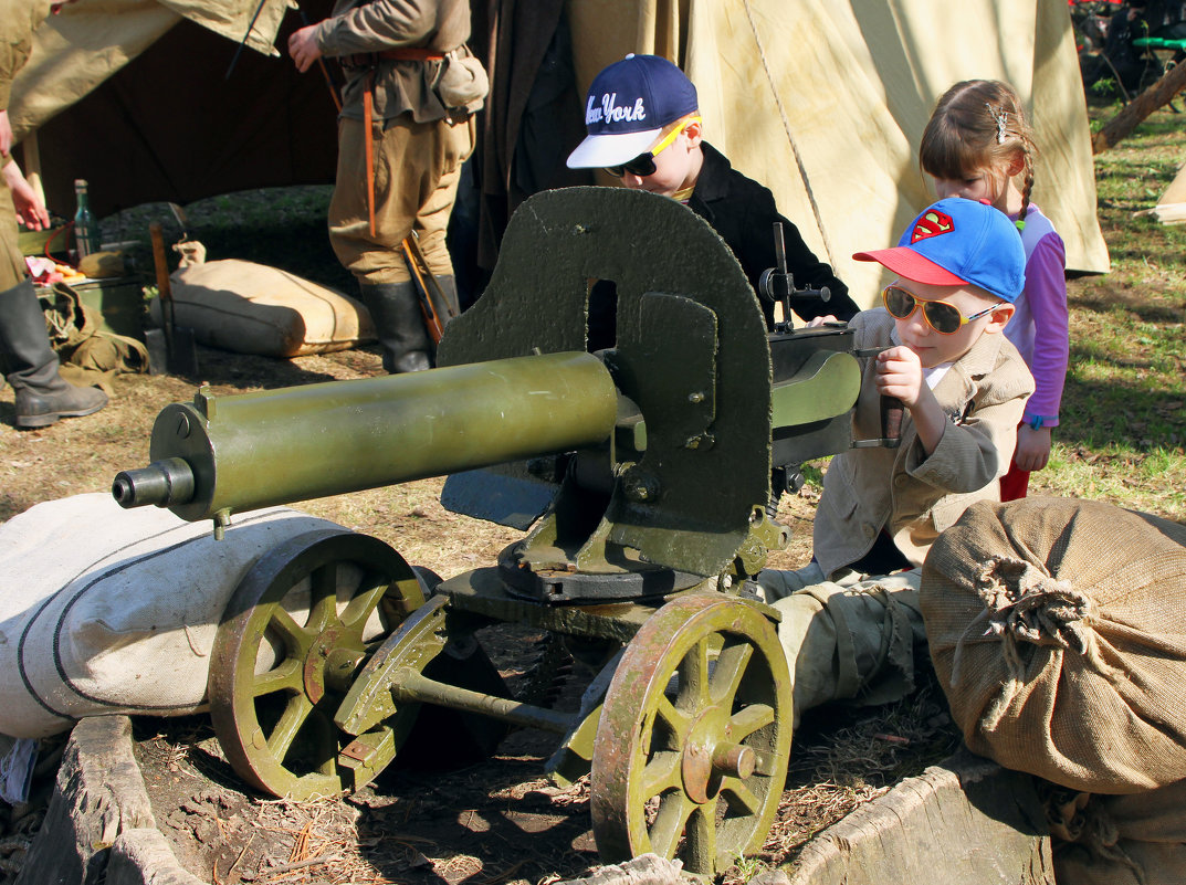
M1107 120L1115 105L1091 108ZM1031 494L1091 498L1186 520L1186 226L1147 216L1186 158L1160 110L1096 158L1111 272L1067 286L1071 363L1051 463Z

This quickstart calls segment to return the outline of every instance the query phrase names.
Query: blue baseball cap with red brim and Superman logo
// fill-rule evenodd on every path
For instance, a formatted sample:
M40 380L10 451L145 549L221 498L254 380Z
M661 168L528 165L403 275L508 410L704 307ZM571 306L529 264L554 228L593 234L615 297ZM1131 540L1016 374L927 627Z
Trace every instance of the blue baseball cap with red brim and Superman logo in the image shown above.
M893 249L853 257L920 283L978 286L1010 304L1026 284L1026 250L1013 222L997 209L961 197L923 210Z

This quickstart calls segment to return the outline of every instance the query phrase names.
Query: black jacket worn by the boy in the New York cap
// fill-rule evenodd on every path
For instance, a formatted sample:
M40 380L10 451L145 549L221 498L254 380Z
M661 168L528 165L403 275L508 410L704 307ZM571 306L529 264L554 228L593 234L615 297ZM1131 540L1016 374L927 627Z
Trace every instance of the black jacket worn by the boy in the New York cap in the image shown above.
M725 154L707 141L701 142L701 152L704 163L691 199L688 200L688 209L708 222L721 235L721 239L728 243L750 278L750 286L758 293L763 313L766 314L766 326L773 323L774 306L758 288L758 281L761 271L776 264L774 222L783 224L786 269L795 277L796 288L810 284L815 289L827 286L831 290L831 300L827 303L797 306L795 313L803 320L828 314L837 320L856 316L860 308L848 296L848 287L808 249L798 227L779 214L774 194L734 169Z

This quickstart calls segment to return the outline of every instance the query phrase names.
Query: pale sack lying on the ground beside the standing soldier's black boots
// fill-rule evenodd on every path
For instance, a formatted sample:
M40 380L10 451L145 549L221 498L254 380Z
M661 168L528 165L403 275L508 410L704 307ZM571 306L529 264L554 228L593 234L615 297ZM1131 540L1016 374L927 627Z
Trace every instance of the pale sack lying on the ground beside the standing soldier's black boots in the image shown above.
M180 268L170 281L174 322L209 347L287 358L375 340L362 302L279 268L228 258ZM161 325L159 299L149 310Z

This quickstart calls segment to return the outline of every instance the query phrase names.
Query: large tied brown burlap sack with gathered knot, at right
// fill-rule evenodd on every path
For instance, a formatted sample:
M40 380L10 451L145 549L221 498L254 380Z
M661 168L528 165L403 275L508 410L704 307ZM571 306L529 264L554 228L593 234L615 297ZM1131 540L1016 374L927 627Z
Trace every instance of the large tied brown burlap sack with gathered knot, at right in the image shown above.
M920 605L974 752L1088 793L1186 778L1186 527L980 502L931 547Z

